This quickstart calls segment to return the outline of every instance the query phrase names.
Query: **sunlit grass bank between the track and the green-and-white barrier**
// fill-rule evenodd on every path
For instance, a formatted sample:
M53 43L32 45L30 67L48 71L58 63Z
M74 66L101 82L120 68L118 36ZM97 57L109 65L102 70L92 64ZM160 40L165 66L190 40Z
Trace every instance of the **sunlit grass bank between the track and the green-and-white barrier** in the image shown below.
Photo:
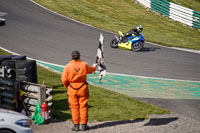
M115 33L119 30L126 32L141 24L144 27L143 35L146 41L165 46L200 50L198 29L156 14L132 0L34 1L70 18ZM199 1L190 2L190 6L195 7L196 5L199 5Z

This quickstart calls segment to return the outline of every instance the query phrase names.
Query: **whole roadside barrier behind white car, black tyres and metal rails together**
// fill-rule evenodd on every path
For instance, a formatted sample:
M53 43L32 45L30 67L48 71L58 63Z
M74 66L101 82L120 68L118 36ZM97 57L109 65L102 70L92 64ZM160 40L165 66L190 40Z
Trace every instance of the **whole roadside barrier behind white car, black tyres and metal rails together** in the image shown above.
M0 107L32 116L37 101L52 105L52 88L37 84L37 64L26 56L0 55ZM49 115L50 118L50 115Z

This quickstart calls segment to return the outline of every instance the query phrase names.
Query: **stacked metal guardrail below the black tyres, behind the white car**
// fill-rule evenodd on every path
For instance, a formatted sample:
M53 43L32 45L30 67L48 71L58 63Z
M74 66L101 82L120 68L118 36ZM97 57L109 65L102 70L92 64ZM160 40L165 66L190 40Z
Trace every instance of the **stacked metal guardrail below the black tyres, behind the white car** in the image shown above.
M37 101L40 105L46 101L50 113L53 98L51 91L49 86L0 77L0 108L25 111L27 116L32 116Z

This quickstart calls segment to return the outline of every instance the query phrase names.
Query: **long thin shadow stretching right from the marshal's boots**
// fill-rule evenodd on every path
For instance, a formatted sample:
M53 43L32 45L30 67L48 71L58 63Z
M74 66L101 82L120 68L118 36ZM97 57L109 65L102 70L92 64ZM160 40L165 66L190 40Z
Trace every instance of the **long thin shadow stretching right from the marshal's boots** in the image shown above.
M90 126L90 130L98 129L98 128L111 127L111 126L116 126L116 125L123 125L123 124L129 124L129 123L142 122L144 120L145 119L135 119L135 120L122 120L122 121L105 122L105 123L98 124L98 125L95 125L95 126Z

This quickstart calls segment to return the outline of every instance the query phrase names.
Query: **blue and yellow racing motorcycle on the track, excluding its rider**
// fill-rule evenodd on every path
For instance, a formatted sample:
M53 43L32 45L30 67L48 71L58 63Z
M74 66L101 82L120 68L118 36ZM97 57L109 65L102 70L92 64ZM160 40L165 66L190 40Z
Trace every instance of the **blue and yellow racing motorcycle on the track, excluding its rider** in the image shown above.
M139 36L132 34L130 37L123 37L124 34L121 31L118 31L119 35L115 35L115 38L111 40L111 48L121 48L128 49L134 52L140 51L144 45L144 37L141 33Z

